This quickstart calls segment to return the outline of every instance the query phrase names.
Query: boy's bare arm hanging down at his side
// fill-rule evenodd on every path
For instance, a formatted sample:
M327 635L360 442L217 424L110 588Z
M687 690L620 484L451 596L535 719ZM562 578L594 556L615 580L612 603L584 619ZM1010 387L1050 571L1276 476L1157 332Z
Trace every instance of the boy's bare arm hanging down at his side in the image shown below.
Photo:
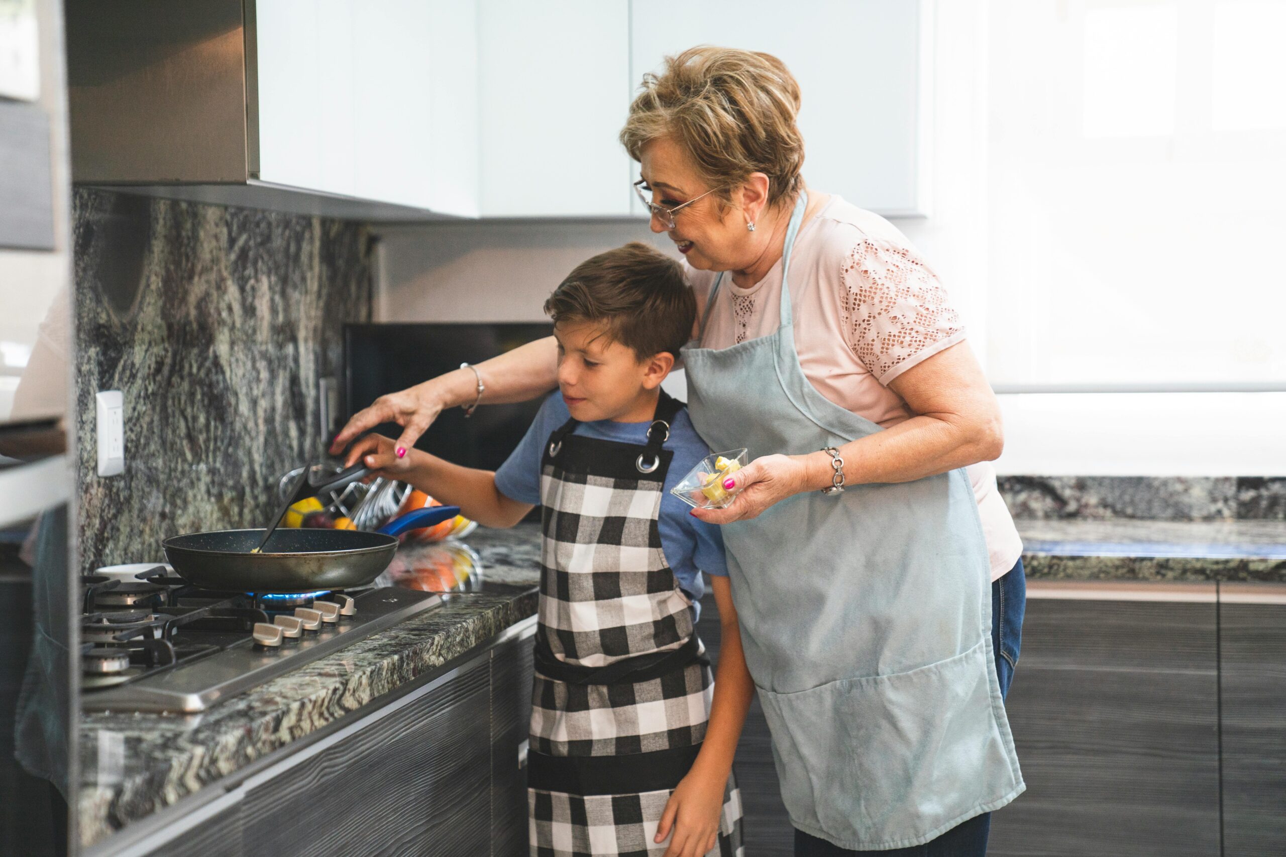
M715 604L719 605L719 666L715 672L715 696L710 704L710 722L697 761L670 795L656 842L664 842L674 827L674 840L665 857L698 857L715 847L719 818L723 815L724 788L732 773L741 729L755 694L755 684L746 668L741 649L741 626L732 604L727 577L711 577Z

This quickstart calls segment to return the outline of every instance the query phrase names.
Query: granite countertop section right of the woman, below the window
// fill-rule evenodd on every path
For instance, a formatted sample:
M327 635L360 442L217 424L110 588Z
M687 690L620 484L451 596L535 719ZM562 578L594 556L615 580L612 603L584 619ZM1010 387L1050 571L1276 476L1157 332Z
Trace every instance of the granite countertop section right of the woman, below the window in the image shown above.
M1015 523L1031 579L1286 582L1286 520Z

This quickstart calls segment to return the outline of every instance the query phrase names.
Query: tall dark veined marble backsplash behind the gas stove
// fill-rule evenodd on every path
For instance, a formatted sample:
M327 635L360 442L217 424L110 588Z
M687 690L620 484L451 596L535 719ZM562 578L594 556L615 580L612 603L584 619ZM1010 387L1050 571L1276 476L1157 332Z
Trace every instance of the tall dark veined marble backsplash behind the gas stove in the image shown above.
M370 317L367 230L77 189L81 565L163 559L163 537L262 526L324 447L318 380ZM125 397L125 473L96 470L95 400Z

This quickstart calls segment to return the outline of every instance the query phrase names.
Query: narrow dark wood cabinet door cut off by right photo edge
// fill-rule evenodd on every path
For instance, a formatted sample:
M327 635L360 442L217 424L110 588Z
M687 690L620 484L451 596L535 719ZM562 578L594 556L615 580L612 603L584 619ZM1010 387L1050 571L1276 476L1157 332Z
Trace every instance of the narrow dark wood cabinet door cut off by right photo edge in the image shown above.
M1224 853L1282 854L1286 585L1224 583L1219 592Z

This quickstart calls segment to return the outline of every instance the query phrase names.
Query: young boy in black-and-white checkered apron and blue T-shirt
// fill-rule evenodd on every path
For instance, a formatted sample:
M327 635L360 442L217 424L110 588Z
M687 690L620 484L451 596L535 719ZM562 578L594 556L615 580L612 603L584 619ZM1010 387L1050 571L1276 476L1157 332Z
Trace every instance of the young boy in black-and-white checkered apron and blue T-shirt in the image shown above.
M558 392L498 472L399 459L379 436L349 463L365 456L487 527L543 506L530 853L737 854L732 759L754 686L719 529L670 495L707 447L661 389L692 290L676 262L630 243L576 266L545 312ZM694 627L701 570L721 619L718 684Z

